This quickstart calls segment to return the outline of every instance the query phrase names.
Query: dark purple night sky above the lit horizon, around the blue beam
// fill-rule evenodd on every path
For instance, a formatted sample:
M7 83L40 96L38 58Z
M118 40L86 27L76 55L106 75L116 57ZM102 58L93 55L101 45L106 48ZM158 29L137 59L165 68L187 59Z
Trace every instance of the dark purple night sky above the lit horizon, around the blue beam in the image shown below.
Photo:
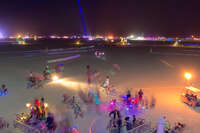
M200 34L198 0L80 0L88 34ZM5 34L83 33L77 0L1 0Z

